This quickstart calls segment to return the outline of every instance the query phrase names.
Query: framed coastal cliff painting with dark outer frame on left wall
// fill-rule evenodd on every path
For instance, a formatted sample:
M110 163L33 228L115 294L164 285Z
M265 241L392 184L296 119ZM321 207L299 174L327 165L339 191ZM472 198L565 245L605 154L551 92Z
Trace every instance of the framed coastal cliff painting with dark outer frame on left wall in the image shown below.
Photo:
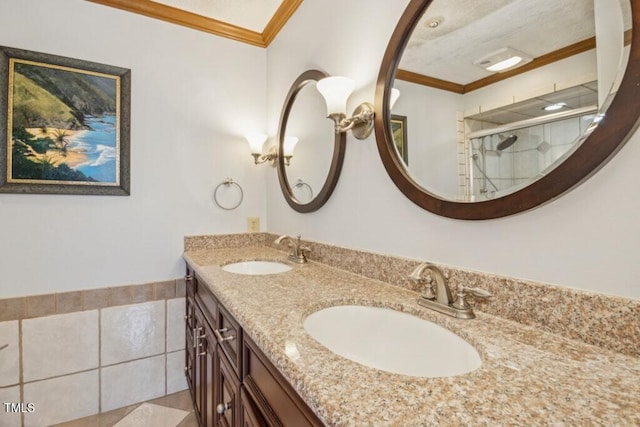
M0 192L130 194L130 70L0 46L0 76Z

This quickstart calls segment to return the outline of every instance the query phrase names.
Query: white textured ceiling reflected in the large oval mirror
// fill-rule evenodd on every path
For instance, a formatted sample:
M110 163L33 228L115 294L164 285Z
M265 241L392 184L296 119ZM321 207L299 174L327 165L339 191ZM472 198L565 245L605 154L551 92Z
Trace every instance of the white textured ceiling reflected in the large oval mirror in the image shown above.
M536 58L594 35L593 0L434 0L400 68L464 85L491 74L473 62L498 49Z

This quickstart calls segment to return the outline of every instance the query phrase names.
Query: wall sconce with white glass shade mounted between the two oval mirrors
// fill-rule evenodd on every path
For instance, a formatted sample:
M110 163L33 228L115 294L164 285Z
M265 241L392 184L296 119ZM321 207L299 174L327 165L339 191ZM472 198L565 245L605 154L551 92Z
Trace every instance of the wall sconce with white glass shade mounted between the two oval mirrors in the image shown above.
M351 131L357 139L365 139L373 129L373 105L363 102L347 117L347 99L354 82L346 77L325 77L316 84L327 103L327 117L334 121L336 133Z

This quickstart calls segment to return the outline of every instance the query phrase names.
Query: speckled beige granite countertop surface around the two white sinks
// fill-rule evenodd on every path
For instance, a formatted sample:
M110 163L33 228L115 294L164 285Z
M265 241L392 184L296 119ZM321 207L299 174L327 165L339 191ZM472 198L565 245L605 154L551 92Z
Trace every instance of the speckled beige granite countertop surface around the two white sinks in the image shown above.
M474 320L454 319L419 306L415 292L313 261L264 276L220 268L288 263L267 247L184 257L327 425L640 425L639 358L478 311ZM478 350L482 367L418 378L342 358L302 326L314 311L342 304L388 307L442 325Z

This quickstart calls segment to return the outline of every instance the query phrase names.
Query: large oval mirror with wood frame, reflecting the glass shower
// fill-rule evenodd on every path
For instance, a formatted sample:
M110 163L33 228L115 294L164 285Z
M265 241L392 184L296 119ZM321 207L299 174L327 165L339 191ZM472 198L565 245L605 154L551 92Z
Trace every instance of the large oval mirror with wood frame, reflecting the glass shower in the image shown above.
M378 151L393 182L458 219L522 212L582 182L637 126L638 7L412 0L376 90Z

